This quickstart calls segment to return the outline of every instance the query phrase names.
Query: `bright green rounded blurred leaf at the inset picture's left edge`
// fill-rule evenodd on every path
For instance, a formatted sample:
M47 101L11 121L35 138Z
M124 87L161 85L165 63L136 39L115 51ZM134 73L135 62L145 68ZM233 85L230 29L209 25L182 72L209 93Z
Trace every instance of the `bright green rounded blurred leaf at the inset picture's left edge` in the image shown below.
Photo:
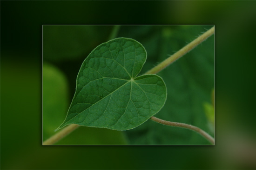
M43 63L43 140L54 134L68 107L66 77L59 69Z

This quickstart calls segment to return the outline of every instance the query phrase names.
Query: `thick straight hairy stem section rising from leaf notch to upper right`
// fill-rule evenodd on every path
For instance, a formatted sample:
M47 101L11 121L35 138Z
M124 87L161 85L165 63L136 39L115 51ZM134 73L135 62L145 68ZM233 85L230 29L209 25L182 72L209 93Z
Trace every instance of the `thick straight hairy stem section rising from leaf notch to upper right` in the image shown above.
M158 64L154 68L150 69L145 73L146 74L156 74L162 69L166 68L171 63L175 62L178 58L182 57L186 53L188 53L190 50L195 48L198 44L202 43L204 40L206 40L208 37L210 37L214 33L214 27L203 33L201 36L196 38L194 41L183 47L181 50L178 50L174 55L168 57L165 59L162 63Z

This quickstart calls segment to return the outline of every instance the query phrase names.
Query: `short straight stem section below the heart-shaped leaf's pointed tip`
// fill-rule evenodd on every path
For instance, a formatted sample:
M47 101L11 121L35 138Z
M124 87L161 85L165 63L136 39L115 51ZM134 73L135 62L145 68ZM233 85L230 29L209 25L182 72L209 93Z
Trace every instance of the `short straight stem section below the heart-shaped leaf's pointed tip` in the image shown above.
M60 132L56 133L54 136L44 141L43 145L53 145L54 143L58 142L59 140L67 136L70 132L74 131L78 127L79 125L77 124L68 125L64 129L62 129Z

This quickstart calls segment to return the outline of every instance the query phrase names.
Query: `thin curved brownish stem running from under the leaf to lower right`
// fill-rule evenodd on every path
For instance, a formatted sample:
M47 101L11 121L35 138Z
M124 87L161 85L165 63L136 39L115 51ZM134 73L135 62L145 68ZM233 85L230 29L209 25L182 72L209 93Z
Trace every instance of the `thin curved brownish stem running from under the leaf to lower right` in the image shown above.
M161 123L163 125L167 125L167 126L175 126L175 127L183 127L183 128L186 128L186 129L190 129L192 131L195 131L195 132L198 132L199 134L201 134L205 139L209 140L209 142L211 144L214 145L214 138L211 137L207 132L203 131L202 129L200 129L199 127L196 127L196 126L192 126L192 125L188 125L188 124L185 124L185 123L177 123L177 122L169 122L169 121L166 121L166 120L162 120L162 119L159 119L159 118L156 118L154 116L152 116L150 118L151 120L157 122L157 123Z

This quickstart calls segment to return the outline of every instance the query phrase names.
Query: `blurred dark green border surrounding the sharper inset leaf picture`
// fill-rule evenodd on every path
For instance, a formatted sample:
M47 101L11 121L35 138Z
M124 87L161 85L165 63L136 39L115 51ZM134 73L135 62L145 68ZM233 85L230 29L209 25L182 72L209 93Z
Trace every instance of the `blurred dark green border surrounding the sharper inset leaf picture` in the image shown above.
M1 169L255 169L255 1L0 3ZM216 25L216 145L42 146L46 24Z

